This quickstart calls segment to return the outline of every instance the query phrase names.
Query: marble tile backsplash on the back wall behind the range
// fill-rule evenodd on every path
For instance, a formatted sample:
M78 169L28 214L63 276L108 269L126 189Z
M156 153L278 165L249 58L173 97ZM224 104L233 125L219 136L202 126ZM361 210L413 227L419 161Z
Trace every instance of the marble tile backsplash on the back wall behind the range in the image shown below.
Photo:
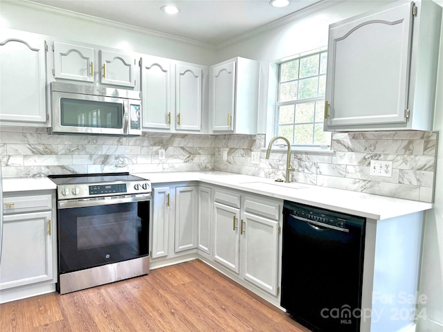
M159 149L165 149L164 160L159 160ZM48 135L46 129L1 127L0 162L5 178L210 170L214 168L214 136Z

